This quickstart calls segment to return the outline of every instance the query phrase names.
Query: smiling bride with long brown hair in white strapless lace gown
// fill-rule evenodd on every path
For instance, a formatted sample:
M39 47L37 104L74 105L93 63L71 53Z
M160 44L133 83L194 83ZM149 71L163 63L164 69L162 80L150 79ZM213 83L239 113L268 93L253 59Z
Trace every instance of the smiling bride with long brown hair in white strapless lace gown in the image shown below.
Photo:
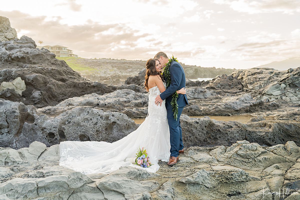
M91 174L105 173L119 169L121 166L133 166L156 172L158 160L169 161L170 130L167 121L165 100L162 106L155 105L155 97L166 90L161 64L155 58L146 63L145 88L149 91L148 115L137 130L124 138L110 143L97 141L64 141L59 144L59 165L75 171ZM177 91L185 94L185 88ZM143 168L134 163L137 148L144 147L152 166Z

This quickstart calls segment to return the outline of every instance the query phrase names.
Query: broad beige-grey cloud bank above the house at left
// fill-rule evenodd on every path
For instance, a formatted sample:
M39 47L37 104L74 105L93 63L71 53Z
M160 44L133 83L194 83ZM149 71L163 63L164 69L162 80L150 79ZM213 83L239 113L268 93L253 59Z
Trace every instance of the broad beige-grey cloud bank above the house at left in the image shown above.
M83 25L66 25L59 22L59 17L47 21L46 16L30 16L16 10L0 11L0 15L9 18L11 26L17 32L25 33L36 42L43 40L43 45L67 46L75 54L85 58L140 59L149 56L148 52L157 50L158 42L163 44L149 34L140 33L125 24L101 24L87 20ZM21 36L18 34L18 37ZM146 39L148 42L144 42ZM140 42L144 42L146 46L138 47Z

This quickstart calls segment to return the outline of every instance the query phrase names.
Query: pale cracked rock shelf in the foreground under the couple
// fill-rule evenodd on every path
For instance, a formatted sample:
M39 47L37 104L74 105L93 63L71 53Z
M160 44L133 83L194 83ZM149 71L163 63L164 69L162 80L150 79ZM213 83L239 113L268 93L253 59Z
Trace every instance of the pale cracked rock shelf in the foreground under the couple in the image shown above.
M43 145L35 142L22 149L40 152ZM292 141L271 147L246 140L190 147L172 167L160 161L156 173L128 166L109 175L84 175L59 166L58 145L26 158L18 157L18 151L0 149L2 199L279 200L298 199L300 192L300 148ZM278 191L284 193L280 198Z

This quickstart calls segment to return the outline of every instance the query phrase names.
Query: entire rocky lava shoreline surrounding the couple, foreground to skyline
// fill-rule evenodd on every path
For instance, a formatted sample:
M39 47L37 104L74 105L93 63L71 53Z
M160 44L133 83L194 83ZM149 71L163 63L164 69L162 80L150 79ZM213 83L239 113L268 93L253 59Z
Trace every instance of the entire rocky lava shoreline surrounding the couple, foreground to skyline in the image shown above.
M58 165L58 144L114 142L136 130L131 118L148 113L145 70L118 86L89 81L9 31L0 37L0 199L300 199L300 67L187 80L178 164L83 175ZM189 117L241 114L255 117Z

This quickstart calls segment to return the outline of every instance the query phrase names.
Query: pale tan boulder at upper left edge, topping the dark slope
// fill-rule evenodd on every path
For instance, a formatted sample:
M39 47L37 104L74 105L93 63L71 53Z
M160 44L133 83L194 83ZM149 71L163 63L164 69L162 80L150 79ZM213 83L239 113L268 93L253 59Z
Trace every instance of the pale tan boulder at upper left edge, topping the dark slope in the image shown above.
M16 29L10 27L10 21L4 16L0 16L0 43L17 38Z

